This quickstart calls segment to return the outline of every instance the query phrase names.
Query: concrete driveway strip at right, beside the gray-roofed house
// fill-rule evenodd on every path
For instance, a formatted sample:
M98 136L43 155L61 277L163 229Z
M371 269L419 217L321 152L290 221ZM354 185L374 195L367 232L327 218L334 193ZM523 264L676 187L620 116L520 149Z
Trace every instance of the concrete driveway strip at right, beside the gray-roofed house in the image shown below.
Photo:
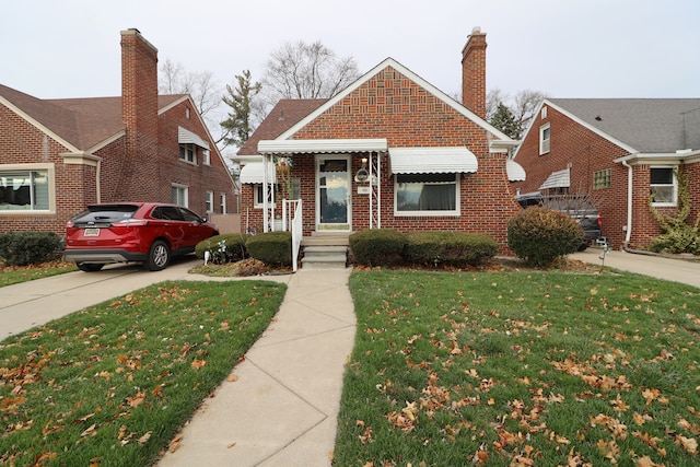
M588 248L585 252L575 253L572 259L603 265L603 249ZM700 288L700 261L686 261L670 259L661 256L642 255L626 252L610 252L605 255L605 266L621 271L637 272L657 279L666 279L674 282L687 283Z

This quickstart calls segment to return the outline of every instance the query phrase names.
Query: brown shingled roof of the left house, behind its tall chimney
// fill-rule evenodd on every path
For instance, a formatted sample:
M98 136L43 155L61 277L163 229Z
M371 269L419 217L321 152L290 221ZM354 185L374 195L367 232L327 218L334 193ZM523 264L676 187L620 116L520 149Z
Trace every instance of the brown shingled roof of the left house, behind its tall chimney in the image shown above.
M161 95L159 108L183 96ZM40 100L0 84L0 103L73 150L88 151L125 129L121 97Z

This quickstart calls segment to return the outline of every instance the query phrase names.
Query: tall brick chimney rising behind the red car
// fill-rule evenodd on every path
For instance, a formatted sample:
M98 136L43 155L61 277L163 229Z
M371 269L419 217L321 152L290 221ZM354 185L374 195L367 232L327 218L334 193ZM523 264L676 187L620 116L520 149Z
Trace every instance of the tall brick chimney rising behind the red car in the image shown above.
M126 153L114 197L132 200L148 196L136 171L158 160L158 49L139 30L121 31L121 119Z

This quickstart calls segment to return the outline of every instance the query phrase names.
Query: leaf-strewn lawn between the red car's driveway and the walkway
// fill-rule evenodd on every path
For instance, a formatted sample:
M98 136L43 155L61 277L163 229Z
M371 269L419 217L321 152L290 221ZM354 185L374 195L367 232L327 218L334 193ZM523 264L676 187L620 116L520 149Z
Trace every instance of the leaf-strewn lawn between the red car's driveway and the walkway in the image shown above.
M0 464L152 464L267 327L285 288L163 282L3 340Z

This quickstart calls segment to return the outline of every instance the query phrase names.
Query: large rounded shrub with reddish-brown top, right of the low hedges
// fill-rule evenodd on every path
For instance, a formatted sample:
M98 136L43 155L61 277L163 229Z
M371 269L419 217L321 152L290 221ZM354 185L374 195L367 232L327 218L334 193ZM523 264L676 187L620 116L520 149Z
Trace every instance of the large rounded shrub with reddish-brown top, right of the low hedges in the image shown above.
M548 208L527 208L508 223L508 246L530 266L547 266L583 242L576 221Z

